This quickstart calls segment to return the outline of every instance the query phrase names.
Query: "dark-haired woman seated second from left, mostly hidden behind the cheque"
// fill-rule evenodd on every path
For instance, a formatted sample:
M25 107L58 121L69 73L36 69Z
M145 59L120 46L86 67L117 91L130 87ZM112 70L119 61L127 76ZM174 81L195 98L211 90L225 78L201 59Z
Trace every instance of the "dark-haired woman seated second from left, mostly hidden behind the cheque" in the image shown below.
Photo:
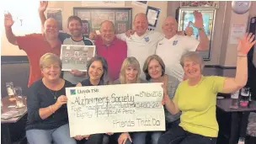
M108 75L108 63L104 57L94 56L88 61L87 72L88 78L77 83L77 87L104 85L104 77ZM103 134L75 136L75 139L77 143L102 144L103 136Z

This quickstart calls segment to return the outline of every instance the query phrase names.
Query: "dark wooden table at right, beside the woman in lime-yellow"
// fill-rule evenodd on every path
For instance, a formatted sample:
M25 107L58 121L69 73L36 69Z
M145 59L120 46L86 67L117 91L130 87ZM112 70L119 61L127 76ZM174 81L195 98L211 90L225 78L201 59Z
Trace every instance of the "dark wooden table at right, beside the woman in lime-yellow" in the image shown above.
M252 101L250 102L250 104L248 105L248 107L243 108L241 106L238 107L238 109L232 109L230 108L232 105L232 99L217 99L216 101L216 106L217 108L225 111L225 112L230 112L231 116L232 116L232 121L231 122L231 133L230 133L230 137L229 137L229 144L234 144L237 143L238 140L238 134L239 134L239 127L240 125L243 125L241 122L239 123L239 119L240 118L241 113L243 112L251 112L251 111L255 111L256 110L256 101ZM229 123L229 121L227 121L227 124Z

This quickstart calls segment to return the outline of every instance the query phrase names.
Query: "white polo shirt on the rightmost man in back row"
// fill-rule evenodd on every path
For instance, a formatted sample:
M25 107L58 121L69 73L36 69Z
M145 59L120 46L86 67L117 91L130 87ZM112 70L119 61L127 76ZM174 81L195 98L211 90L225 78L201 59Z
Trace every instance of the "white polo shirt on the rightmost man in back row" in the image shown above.
M156 54L163 59L165 73L183 81L184 70L180 65L181 56L187 51L196 51L200 41L191 36L174 35L171 39L164 38L157 44Z

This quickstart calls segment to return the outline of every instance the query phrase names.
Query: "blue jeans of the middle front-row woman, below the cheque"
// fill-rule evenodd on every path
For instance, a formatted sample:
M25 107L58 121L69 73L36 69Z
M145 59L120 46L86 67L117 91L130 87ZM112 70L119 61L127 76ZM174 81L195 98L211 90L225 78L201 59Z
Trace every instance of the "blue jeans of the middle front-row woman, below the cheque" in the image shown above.
M129 132L133 144L146 144L147 132ZM121 133L116 134L116 141L118 141ZM131 141L128 139L125 144L131 144Z

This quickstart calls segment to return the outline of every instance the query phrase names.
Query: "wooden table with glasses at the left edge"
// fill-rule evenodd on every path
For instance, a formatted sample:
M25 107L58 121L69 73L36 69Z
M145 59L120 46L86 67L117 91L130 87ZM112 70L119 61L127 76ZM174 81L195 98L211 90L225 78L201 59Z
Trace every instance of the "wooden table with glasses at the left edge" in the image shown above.
M10 136L9 125L18 122L22 117L24 117L24 115L27 114L27 100L26 99L27 99L27 97L24 96L23 100L24 100L24 105L25 106L23 108L19 108L19 109L13 108L13 107L11 107L11 108L8 107L10 105L16 105L15 101L10 101L8 99L8 96L4 97L2 99L3 105L1 107L1 114L5 113L5 112L8 112L10 110L19 111L19 116L17 116L17 117L10 118L8 120L1 119L1 126L2 126L2 130L3 130L2 131L2 136L3 137L1 138L2 139L1 141L3 142L3 144L11 144L12 143L11 136Z

